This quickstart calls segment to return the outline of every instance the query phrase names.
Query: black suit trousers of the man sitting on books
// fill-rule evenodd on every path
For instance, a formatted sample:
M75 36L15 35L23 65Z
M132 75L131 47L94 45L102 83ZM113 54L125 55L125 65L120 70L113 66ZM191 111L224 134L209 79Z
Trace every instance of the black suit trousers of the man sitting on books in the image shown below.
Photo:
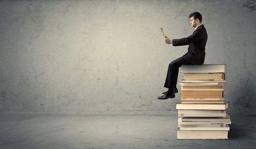
M179 74L179 67L181 67L181 65L192 65L192 63L188 62L183 57L180 57L172 61L168 66L164 87L169 88L171 91L174 90L177 85L177 76Z

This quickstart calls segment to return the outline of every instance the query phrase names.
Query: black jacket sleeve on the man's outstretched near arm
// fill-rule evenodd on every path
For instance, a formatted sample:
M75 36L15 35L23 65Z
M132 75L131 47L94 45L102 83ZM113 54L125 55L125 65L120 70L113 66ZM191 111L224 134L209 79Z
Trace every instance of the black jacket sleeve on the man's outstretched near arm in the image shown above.
M203 39L203 32L200 29L197 29L192 35L182 38L182 39L173 39L173 46L188 45L190 42L195 42L197 40Z

